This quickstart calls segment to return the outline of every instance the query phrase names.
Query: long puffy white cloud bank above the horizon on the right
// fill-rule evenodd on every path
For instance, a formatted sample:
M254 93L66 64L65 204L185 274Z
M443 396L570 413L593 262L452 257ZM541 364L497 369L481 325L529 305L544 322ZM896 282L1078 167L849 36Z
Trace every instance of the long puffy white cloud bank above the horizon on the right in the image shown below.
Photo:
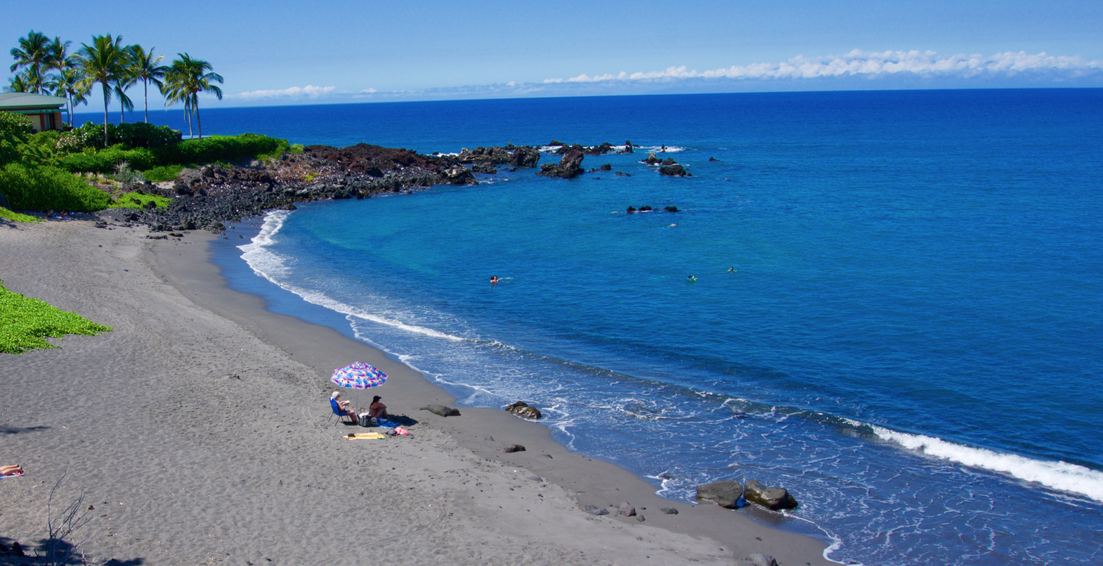
M570 78L546 78L545 84L599 83L608 81L671 81L679 78L815 78L838 76L884 76L911 73L919 76L950 76L968 78L979 75L1015 76L1020 73L1052 73L1082 76L1103 72L1103 61L1088 61L1080 56L1053 56L1045 52L1031 55L997 53L992 56L939 55L933 51L866 52L854 50L846 55L826 57L796 56L784 63L756 63L733 65L714 71L687 71L685 66L646 73L578 75Z

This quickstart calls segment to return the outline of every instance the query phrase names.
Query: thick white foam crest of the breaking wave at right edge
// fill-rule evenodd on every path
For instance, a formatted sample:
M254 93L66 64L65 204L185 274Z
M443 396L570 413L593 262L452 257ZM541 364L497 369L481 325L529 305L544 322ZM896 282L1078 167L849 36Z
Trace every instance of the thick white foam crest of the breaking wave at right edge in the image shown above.
M863 423L850 421L855 426ZM973 468L1007 473L1025 481L1041 483L1054 490L1075 493L1103 502L1103 472L1075 463L1036 460L987 448L949 442L924 435L898 432L876 425L869 426L882 440L896 442L909 450Z

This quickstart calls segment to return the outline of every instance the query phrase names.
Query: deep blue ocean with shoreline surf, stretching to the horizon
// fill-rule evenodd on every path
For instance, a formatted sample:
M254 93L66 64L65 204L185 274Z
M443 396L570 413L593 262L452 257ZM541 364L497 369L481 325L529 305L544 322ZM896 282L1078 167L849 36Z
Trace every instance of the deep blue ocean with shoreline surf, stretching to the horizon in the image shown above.
M583 162L623 175L318 202L234 226L216 261L460 405L536 405L559 441L666 498L785 487L799 508L753 516L832 559L1103 564L1101 89L202 117L204 134L426 153L631 140ZM151 119L186 134L180 111ZM640 162L663 146L692 178Z

